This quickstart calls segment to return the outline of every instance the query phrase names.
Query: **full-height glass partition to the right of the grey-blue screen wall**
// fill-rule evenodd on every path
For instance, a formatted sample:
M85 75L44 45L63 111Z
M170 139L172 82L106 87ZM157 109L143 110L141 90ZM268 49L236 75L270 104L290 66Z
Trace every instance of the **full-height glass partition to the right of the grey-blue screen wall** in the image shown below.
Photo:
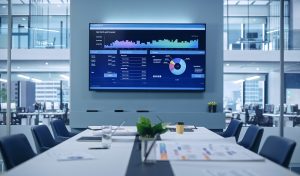
M300 126L299 7L293 4L284 1L285 127ZM229 117L239 114L248 124L279 126L279 49L280 0L224 1L224 111L233 112Z

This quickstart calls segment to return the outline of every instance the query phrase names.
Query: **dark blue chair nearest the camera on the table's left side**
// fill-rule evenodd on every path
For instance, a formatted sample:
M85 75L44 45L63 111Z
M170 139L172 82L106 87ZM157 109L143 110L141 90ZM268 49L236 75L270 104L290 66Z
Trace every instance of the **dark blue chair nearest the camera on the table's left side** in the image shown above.
M36 155L24 134L15 134L1 138L0 149L7 170Z

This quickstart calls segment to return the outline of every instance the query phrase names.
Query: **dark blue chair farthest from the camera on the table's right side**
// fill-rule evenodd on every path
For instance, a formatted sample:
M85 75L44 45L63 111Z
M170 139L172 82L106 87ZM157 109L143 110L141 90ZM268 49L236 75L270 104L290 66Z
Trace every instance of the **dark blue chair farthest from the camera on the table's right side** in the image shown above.
M235 140L237 141L240 136L242 125L243 125L243 122L236 120L236 119L231 119L227 129L220 135L225 138L226 137L235 137Z

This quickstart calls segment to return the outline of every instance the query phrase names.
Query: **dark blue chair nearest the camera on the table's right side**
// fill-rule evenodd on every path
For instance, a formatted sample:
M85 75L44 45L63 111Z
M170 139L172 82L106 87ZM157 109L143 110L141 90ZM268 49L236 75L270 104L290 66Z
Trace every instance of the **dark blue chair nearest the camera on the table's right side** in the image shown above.
M269 136L259 154L283 167L288 167L296 147L296 142L284 137Z

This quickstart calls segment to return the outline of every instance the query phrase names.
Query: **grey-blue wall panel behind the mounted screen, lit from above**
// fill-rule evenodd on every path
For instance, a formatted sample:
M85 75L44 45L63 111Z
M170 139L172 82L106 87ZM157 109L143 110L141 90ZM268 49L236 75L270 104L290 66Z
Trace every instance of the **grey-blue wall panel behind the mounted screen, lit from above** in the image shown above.
M92 92L88 90L89 23L206 23L205 92ZM207 113L216 101L220 113ZM138 109L166 121L184 121L208 128L225 126L223 107L223 2L220 0L72 0L71 1L71 127L136 123ZM99 112L86 112L87 109ZM115 109L126 112L116 113Z

